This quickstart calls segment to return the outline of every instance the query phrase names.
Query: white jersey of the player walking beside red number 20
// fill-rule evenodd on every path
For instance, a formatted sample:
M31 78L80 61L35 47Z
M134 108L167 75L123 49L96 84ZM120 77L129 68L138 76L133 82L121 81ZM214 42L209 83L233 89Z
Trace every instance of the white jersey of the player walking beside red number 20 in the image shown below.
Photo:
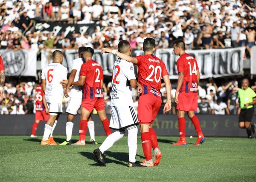
M129 80L136 79L134 65L118 58L113 67L111 106L133 105Z

